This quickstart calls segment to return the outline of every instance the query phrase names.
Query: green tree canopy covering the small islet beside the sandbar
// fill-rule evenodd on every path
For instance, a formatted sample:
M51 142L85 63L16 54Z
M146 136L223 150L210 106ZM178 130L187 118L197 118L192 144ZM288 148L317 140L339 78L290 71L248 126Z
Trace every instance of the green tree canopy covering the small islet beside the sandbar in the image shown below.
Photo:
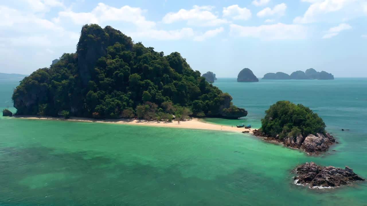
M310 108L302 104L294 104L289 101L279 101L265 111L265 117L261 119L262 132L275 137L284 138L287 135L297 136L302 134L325 134L325 123Z

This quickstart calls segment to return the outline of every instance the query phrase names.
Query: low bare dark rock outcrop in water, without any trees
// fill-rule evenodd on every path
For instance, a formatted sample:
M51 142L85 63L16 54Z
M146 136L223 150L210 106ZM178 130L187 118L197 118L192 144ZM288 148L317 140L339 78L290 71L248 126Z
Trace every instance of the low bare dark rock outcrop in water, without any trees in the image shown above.
M294 177L296 184L309 185L313 187L338 187L341 185L352 184L356 181L363 181L348 166L345 169L333 166L317 166L314 162L298 166L294 170L298 176Z

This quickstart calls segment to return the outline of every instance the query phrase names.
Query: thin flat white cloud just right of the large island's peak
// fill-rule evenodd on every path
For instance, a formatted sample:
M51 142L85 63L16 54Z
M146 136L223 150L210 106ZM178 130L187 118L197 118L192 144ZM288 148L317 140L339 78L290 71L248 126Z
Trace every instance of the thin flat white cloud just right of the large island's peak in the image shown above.
M192 28L182 28L181 30L156 30L150 29L142 32L132 32L132 37L144 37L156 40L179 40L194 36Z

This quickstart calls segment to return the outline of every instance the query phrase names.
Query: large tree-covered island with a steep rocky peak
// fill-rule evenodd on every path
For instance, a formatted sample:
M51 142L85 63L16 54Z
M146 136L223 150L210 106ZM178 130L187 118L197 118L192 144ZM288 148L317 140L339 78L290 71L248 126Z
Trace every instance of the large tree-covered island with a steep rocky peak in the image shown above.
M178 52L164 55L110 26L91 24L81 29L76 53L24 78L12 100L15 115L157 120L247 115L200 76Z

